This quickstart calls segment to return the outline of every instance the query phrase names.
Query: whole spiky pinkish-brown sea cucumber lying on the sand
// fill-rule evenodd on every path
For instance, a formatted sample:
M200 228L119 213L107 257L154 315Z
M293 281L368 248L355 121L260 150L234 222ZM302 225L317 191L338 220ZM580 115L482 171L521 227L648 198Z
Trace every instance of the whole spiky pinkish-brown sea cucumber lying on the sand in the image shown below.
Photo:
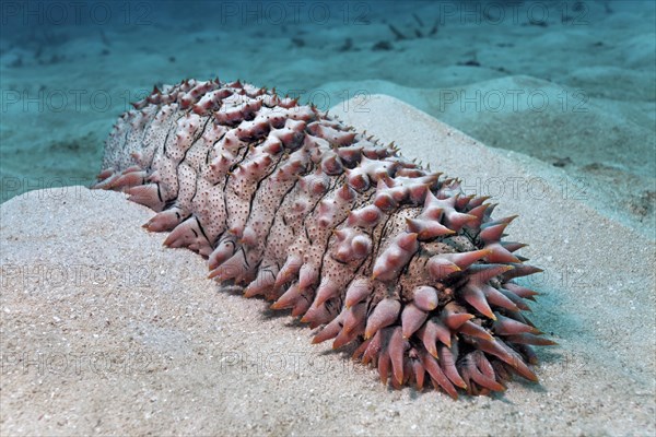
M274 91L219 80L155 88L107 139L96 188L157 211L144 225L208 258L210 277L291 308L314 342L358 344L380 379L457 397L537 380L522 314L540 271L502 241L515 218Z

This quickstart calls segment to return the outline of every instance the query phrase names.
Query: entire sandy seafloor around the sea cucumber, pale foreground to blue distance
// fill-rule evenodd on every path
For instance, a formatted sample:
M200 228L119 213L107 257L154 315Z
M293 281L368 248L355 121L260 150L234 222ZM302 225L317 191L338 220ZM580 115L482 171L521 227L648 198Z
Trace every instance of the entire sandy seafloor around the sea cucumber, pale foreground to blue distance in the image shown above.
M653 435L653 2L1 12L0 434ZM546 270L534 321L560 343L540 351L541 383L455 403L386 389L292 318L219 291L196 255L162 249L121 194L32 192L89 186L115 119L153 84L216 75L332 108L520 213L511 236ZM397 99L480 143L444 140Z

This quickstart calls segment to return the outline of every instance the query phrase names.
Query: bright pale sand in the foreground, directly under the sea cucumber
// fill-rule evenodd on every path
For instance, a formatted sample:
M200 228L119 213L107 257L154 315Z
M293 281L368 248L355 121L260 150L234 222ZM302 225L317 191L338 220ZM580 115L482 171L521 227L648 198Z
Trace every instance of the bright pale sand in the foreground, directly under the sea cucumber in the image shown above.
M458 401L389 390L163 248L139 227L151 211L68 188L0 206L0 434L654 435L654 240L576 200L551 166L389 97L370 107L342 118L466 187L505 187L496 214L522 215L511 238L546 270L528 282L543 293L532 319L560 343L539 350L540 385Z

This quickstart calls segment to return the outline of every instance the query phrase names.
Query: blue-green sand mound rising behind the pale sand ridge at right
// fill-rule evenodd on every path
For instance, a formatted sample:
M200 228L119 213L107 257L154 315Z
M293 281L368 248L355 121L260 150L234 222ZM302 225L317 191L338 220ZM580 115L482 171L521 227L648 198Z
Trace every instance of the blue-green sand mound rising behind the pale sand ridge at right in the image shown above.
M617 82L626 83L619 76ZM578 200L639 232L646 231L644 235L654 235L656 139L651 103L611 101L585 88L526 75L435 90L384 81L333 82L323 90L332 101L358 93L360 105L337 105L353 114L366 114L375 93L412 102L487 145L520 152L562 169L553 176L574 184Z

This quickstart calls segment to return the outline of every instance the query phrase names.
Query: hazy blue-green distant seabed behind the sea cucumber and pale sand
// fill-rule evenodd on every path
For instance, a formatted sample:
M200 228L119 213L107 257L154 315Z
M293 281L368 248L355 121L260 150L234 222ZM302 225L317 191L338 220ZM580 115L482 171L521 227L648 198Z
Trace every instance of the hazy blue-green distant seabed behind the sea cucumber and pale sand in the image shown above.
M92 184L130 102L215 76L395 96L653 233L653 1L3 1L0 200Z

